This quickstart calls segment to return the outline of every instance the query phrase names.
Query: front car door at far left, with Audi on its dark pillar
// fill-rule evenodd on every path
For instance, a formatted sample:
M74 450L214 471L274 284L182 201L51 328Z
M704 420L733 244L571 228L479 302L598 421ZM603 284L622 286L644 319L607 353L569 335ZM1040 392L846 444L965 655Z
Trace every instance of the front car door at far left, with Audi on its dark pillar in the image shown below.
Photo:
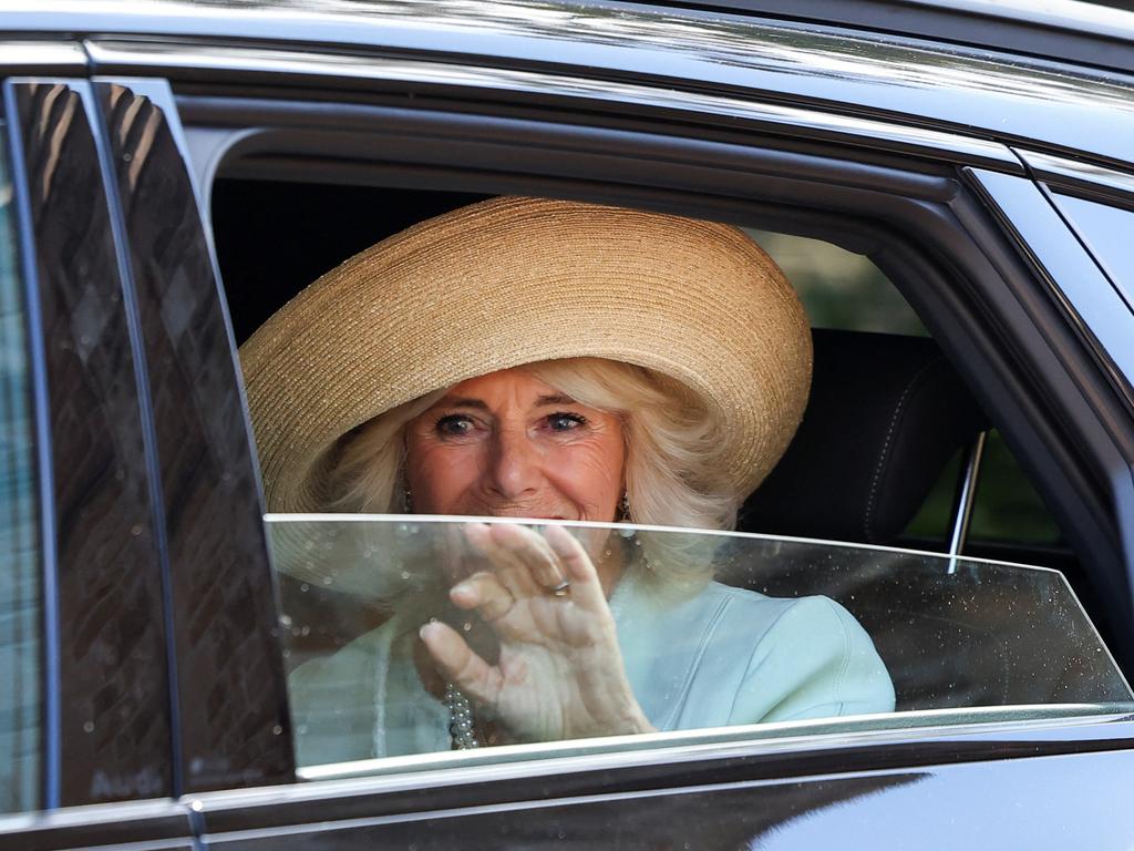
M45 45L43 54L58 60L67 50ZM81 70L81 57L70 58ZM17 503L14 515L27 516L25 545L9 550L7 567L19 571L23 551L28 570L5 580L34 604L23 616L14 609L5 648L16 656L6 671L20 673L9 694L32 709L17 739L25 752L6 760L23 777L6 811L45 812L5 817L0 829L25 848L188 848L187 810L169 800L162 542L137 329L92 90L12 75L3 96L6 345L12 364L25 364L8 398L26 411L34 447L18 467L31 504ZM104 801L138 803L118 817L87 807Z

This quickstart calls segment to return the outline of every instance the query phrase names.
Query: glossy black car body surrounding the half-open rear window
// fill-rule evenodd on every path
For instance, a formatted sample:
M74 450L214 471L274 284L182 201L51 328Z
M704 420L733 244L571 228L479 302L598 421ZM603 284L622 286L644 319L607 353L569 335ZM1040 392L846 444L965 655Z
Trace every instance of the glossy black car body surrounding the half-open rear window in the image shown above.
M1134 15L1068 9L0 7L6 345L28 364L9 478L33 482L12 553L41 660L10 688L39 732L0 845L1128 846L1120 701L297 780L235 354L310 278L272 277L287 243L321 244L318 273L366 230L372 196L335 187L403 191L390 229L432 189L840 245L914 307L1063 532L984 555L1063 568L1128 676ZM256 217L282 184L273 243ZM259 264L278 292L245 286Z

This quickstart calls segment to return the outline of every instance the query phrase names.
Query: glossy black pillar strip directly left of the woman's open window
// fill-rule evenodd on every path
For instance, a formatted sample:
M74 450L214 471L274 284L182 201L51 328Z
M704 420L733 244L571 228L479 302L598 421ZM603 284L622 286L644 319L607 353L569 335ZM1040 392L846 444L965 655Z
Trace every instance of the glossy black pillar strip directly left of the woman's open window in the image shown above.
M293 776L259 488L193 186L162 108L95 87L149 364L177 647L185 791Z

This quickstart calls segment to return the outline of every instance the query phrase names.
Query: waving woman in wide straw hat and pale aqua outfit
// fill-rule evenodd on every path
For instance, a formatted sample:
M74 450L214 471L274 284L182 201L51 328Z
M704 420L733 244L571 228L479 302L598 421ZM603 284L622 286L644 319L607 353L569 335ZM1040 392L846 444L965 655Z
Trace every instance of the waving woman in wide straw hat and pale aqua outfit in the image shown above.
M742 231L530 199L374 245L240 357L272 512L710 530L782 454L811 370L799 302ZM404 601L293 675L301 764L892 709L833 601L712 582L684 539L584 532L468 523L445 603L491 650Z

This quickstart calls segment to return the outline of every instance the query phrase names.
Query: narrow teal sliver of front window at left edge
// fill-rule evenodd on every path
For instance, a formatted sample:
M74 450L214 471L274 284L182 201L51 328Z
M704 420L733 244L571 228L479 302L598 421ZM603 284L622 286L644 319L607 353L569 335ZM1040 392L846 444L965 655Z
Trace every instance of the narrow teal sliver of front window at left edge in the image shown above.
M12 188L0 152L0 811L34 809L40 789L40 574L27 321Z

